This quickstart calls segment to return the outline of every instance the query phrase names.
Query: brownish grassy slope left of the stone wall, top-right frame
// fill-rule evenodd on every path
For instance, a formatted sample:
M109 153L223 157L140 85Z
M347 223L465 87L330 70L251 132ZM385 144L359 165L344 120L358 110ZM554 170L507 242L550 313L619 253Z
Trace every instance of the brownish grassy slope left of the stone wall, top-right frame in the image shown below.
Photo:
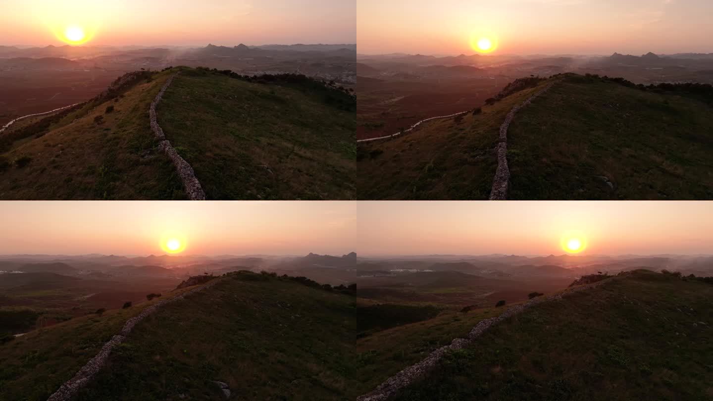
M359 198L488 199L498 130L511 108L543 85L483 106L476 115L432 120L404 136L359 143Z

